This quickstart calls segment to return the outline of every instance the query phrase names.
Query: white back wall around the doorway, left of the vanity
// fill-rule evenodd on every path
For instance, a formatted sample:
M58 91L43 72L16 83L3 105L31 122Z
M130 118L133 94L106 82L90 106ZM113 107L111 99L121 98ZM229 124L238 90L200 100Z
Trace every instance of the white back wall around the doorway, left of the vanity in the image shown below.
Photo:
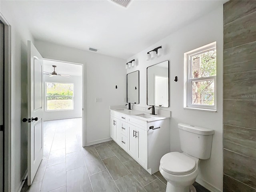
M84 64L86 145L110 139L109 106L126 103L126 61L49 42L35 46L44 58Z

